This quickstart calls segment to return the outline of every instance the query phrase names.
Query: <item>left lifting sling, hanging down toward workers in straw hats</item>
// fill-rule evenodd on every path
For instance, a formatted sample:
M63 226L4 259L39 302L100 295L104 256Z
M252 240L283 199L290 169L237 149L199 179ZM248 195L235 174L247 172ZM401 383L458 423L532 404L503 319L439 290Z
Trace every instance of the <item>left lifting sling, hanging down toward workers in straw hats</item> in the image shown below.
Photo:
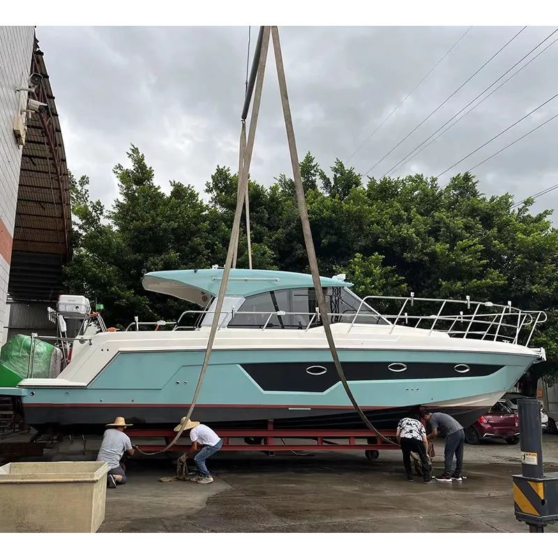
M234 220L232 223L232 232L231 238L229 240L229 249L227 250L227 259L225 261L225 268L223 269L223 278L221 279L221 284L219 287L219 294L217 297L217 303L215 308L215 313L213 315L213 322L211 323L211 331L209 332L209 338L207 341L207 347L204 356L204 363L202 364L202 370L199 372L199 378L197 380L197 386L195 389L194 397L192 402L190 403L190 408L188 409L188 413L186 417L184 417L184 421L181 421L180 429L176 432L176 436L160 451L156 452L149 452L146 453L144 451L140 451L143 455L157 455L158 453L163 453L167 451L169 448L174 446L176 442L178 442L179 437L181 437L182 432L186 428L186 424L188 420L192 416L192 413L195 409L195 405L197 399L199 398L199 392L202 390L202 384L204 382L204 377L207 372L207 368L209 365L209 359L211 357L211 352L213 350L213 343L215 342L216 333L218 330L218 326L220 324L220 314L221 310L223 310L223 301L225 299L225 294L227 293L227 283L229 281L229 275L232 268L232 259L234 257L234 246L235 243L238 243L239 239L239 229L240 229L240 221L242 216L242 208L244 204L244 199L246 196L246 188L248 186L248 173L250 172L250 162L252 160L252 152L254 150L254 140L255 140L255 133L256 133L256 126L257 126L257 119L259 116L259 106L260 101L262 100L262 88L264 85L264 73L266 67L266 58L267 58L267 51L269 47L269 27L264 29L262 33L262 50L259 56L258 68L257 68L257 80L255 86L255 94L254 94L254 105L252 107L252 115L250 117L250 129L248 131L248 142L246 144L246 151L244 153L244 160L241 169L241 176L239 176L239 195L236 199L236 211L234 212Z

